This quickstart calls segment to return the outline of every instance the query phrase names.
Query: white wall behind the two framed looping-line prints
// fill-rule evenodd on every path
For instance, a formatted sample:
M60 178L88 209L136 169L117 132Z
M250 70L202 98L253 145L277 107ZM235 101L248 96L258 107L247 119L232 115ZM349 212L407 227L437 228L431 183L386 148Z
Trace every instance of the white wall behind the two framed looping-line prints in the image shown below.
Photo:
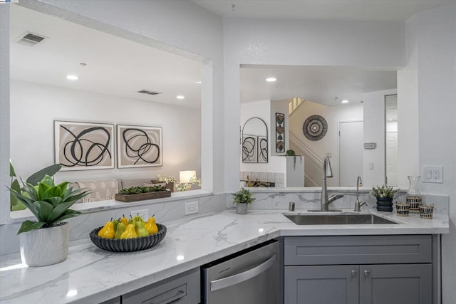
M179 177L185 169L201 176L199 109L11 80L10 118L11 160L24 178L53 164L53 120L162 127L160 167L58 172L56 179Z

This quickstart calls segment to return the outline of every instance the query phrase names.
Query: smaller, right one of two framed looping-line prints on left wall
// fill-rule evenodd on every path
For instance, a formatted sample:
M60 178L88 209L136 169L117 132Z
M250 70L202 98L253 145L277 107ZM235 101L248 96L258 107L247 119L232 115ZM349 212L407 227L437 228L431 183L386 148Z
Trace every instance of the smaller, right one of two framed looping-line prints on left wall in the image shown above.
M118 168L162 166L162 128L117 125Z

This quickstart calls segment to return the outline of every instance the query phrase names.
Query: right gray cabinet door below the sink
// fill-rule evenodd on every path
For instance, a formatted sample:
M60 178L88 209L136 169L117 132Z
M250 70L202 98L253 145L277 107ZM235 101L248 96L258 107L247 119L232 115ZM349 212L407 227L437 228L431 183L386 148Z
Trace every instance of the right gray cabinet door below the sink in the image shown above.
M361 304L431 304L432 264L362 265Z

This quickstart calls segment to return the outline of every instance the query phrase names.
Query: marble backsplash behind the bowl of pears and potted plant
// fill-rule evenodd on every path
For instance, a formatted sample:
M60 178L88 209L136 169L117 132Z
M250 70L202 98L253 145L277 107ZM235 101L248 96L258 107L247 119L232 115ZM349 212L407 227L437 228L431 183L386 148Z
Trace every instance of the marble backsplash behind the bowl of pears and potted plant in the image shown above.
M147 209L150 216L155 214L155 219L158 223L182 219L186 216L185 203L192 201L198 201L199 212L197 214L189 215L188 217L200 216L201 214L208 214L225 209L225 194L212 194L172 201L161 200L155 202L150 200L150 204L131 205L126 203L125 207L122 208L86 211L80 216L66 220L70 223L70 241L88 238L88 234L93 229L103 226L106 221L109 221L111 218L118 219L123 216L123 214L129 217L131 211ZM19 251L19 236L16 236L16 234L20 225L20 222L0 225L0 256Z

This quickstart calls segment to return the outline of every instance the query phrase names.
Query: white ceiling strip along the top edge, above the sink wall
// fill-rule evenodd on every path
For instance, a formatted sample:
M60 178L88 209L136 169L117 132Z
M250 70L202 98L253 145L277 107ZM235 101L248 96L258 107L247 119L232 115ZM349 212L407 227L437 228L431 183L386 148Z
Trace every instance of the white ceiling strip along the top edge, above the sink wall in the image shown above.
M346 21L405 21L421 11L456 2L456 0L193 1L224 17Z

